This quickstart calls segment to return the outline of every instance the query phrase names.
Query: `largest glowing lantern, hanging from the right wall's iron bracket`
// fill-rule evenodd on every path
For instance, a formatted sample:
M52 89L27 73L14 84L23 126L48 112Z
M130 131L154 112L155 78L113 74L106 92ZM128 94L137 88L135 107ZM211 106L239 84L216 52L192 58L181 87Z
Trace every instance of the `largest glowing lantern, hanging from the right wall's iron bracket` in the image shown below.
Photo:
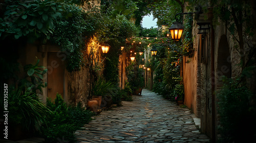
M173 22L173 25L168 28L170 31L170 35L172 35L173 40L179 41L181 38L181 34L183 32L184 26L181 22Z

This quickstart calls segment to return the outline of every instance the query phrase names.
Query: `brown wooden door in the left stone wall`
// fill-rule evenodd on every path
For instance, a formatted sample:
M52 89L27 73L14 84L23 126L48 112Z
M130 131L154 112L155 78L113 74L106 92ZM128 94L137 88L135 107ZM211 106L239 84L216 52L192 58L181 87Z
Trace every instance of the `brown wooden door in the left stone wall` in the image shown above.
M61 61L61 58L57 57L57 53L48 53L47 68L47 97L54 101L54 99L56 99L56 94L59 93L63 98L65 64Z

